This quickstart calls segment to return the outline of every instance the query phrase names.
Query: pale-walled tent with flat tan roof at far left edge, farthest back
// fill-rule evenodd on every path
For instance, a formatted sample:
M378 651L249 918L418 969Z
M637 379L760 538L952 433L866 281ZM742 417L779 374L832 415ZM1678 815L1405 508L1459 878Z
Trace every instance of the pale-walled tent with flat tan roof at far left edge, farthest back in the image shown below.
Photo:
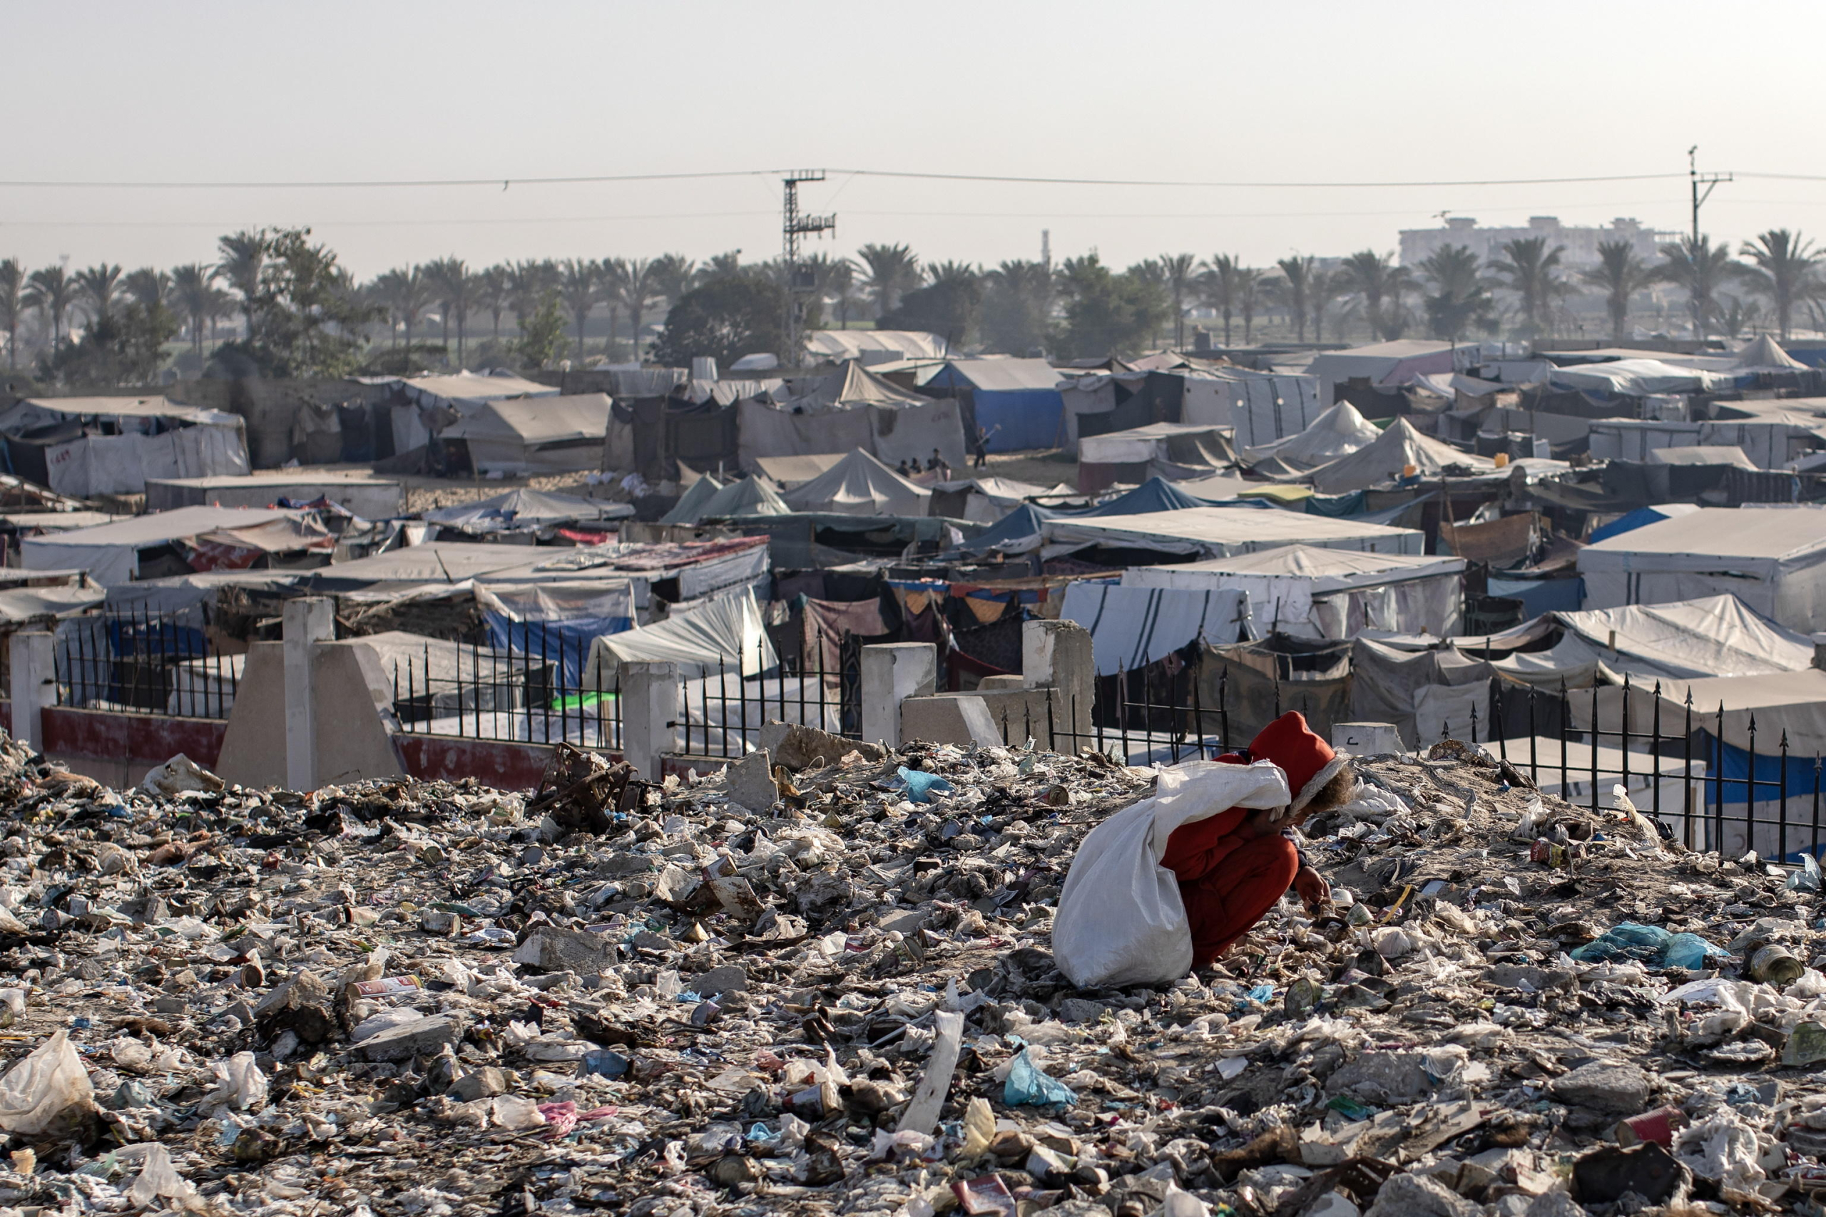
M250 471L239 414L166 398L22 398L0 411L0 436L13 473L73 498Z

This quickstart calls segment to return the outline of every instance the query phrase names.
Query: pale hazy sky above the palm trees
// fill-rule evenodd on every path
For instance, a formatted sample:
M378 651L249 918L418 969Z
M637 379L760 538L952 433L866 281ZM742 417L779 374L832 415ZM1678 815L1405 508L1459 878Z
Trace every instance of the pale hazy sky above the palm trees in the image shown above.
M1439 212L1687 224L1684 179L1161 188L1735 170L1704 226L1826 237L1817 4L51 4L0 9L0 257L208 259L310 224L360 276L458 254L780 252L778 173L433 188L27 188L22 181L398 181L829 166L834 243L993 263L1099 248L1388 250ZM1753 49L1757 47L1757 49ZM1802 62L1782 66L1782 55Z

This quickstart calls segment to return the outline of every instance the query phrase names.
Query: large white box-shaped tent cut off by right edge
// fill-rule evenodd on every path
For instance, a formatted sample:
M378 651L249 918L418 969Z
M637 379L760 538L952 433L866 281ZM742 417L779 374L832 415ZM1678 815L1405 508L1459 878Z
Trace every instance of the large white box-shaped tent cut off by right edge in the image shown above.
M1702 507L1587 546L1578 566L1585 608L1731 593L1789 629L1826 629L1826 507Z

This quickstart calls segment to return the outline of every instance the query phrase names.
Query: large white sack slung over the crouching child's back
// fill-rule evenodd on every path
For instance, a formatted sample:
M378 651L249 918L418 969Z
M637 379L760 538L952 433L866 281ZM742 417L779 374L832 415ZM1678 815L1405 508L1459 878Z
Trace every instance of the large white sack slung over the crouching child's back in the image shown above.
M1192 929L1180 881L1160 865L1180 825L1233 806L1289 803L1287 775L1269 761L1192 761L1161 770L1158 794L1090 830L1077 848L1052 923L1052 954L1072 983L1163 983L1192 967Z

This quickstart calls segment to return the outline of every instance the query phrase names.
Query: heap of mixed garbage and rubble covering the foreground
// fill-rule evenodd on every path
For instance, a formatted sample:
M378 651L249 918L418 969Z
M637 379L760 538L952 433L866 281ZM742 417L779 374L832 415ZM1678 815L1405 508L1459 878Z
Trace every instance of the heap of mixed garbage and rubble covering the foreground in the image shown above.
M0 1206L705 1217L1821 1212L1817 870L1375 757L1214 973L1048 952L1101 755L131 792L0 743Z

